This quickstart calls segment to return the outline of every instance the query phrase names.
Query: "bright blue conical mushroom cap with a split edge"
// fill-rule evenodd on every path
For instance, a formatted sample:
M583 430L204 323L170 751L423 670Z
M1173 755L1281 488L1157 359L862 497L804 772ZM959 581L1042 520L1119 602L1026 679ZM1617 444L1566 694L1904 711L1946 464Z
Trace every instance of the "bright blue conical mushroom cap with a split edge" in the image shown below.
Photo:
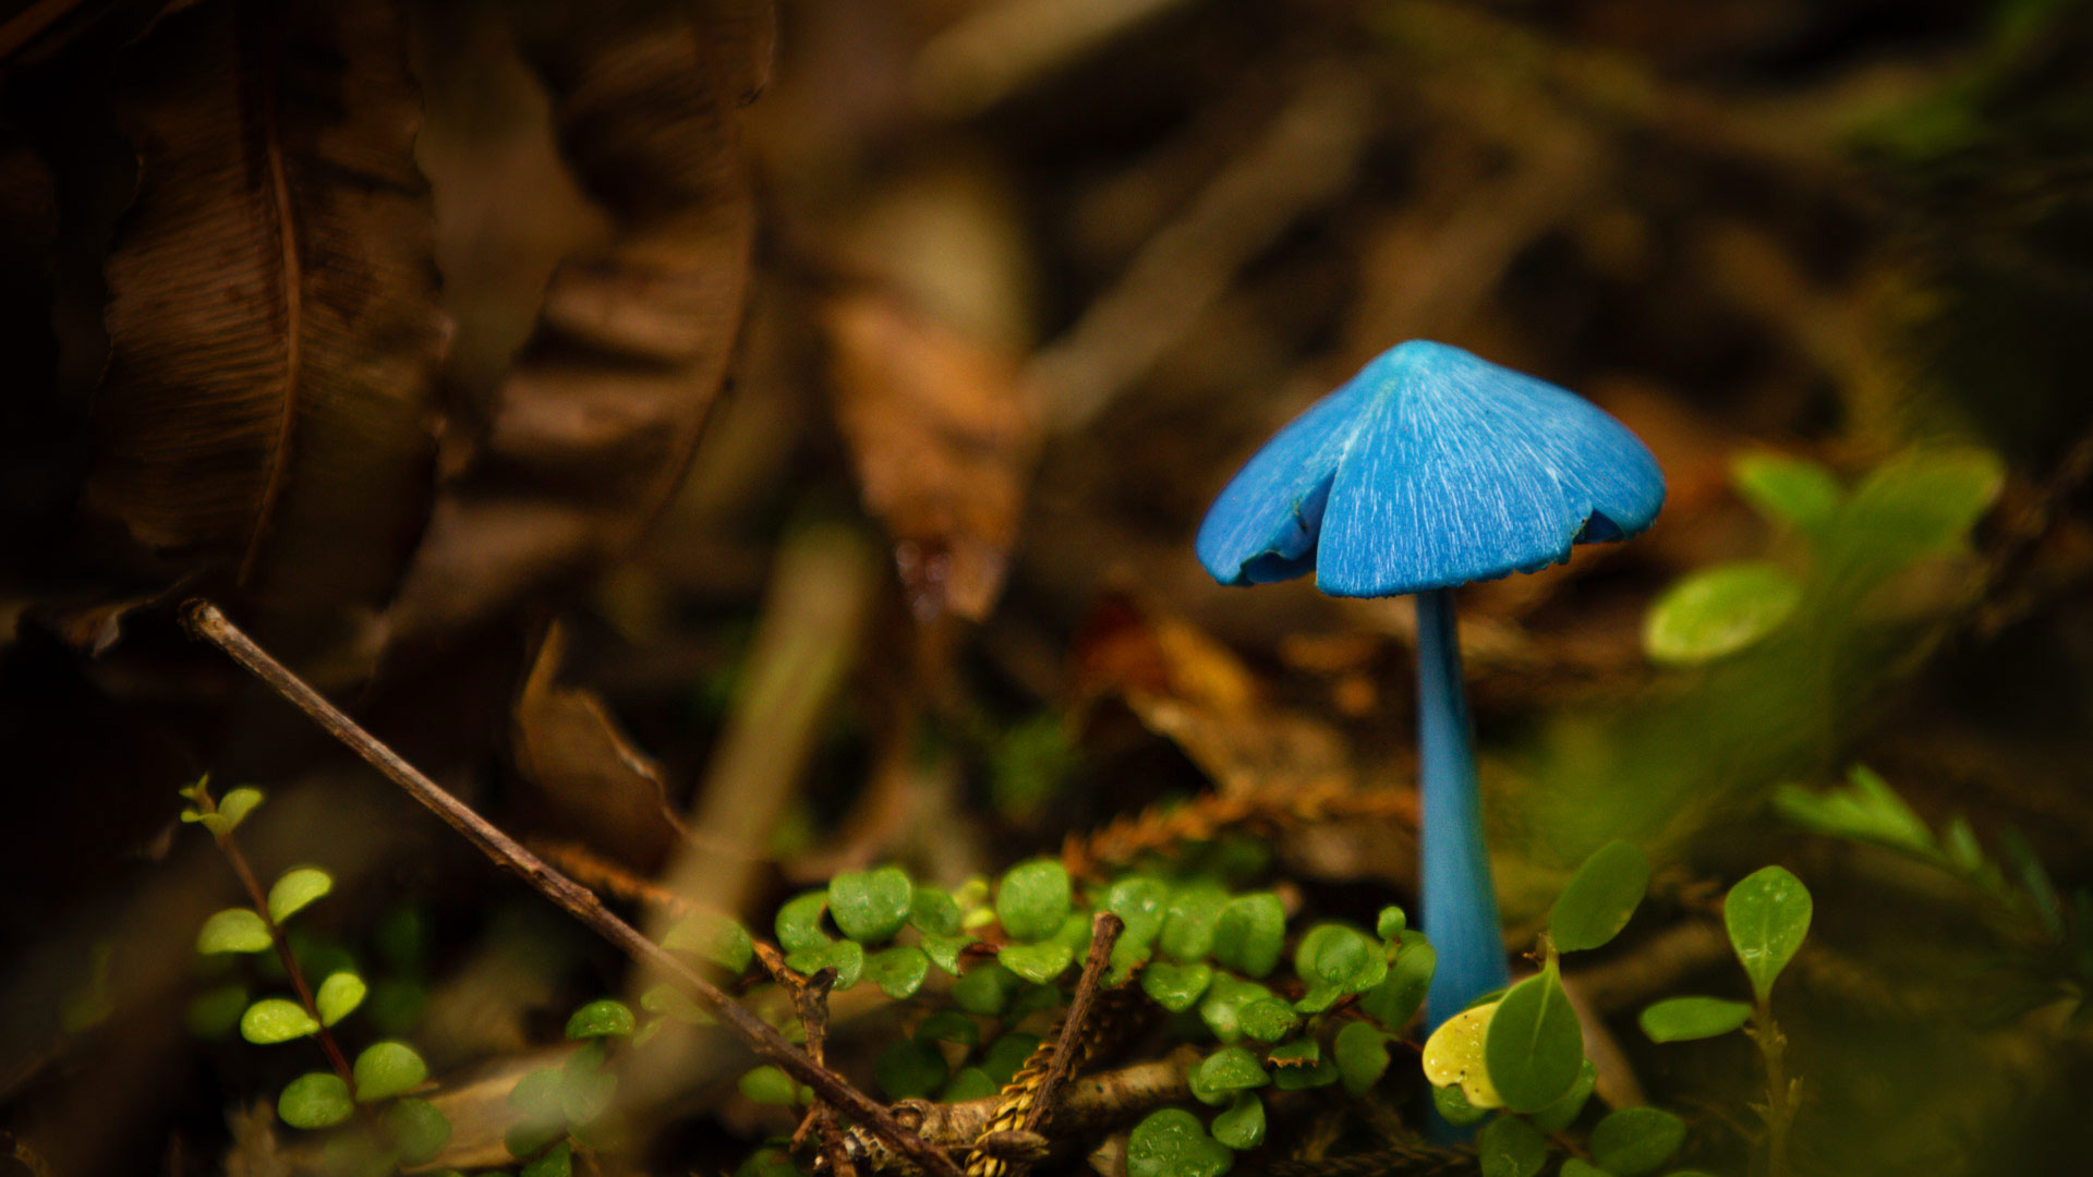
M1411 339L1266 442L1197 551L1222 584L1314 572L1333 597L1400 597L1559 563L1662 505L1658 461L1599 406Z

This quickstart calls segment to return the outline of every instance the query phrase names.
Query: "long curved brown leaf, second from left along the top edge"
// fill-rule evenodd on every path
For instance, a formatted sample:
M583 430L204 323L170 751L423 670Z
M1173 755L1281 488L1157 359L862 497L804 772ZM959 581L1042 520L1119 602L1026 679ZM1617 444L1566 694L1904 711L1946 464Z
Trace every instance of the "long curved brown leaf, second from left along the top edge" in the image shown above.
M622 553L676 488L726 375L753 205L745 96L762 0L530 13L559 142L615 237L555 272L486 434L440 494L396 647L473 628Z

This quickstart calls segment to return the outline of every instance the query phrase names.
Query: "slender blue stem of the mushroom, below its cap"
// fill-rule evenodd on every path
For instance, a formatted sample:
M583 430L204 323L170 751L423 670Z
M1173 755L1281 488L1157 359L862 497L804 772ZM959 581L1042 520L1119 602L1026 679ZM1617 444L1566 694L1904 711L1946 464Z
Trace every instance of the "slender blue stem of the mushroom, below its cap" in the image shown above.
M1425 1030L1432 1030L1509 982L1490 852L1482 842L1453 588L1417 593L1417 775L1423 794L1419 926L1438 953L1425 997Z

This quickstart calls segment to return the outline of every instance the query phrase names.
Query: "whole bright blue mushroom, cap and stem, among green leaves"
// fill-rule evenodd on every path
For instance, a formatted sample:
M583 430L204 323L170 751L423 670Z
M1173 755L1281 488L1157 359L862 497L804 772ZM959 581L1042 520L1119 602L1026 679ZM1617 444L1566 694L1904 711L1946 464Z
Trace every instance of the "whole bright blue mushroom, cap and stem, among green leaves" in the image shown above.
M1281 429L1199 526L1222 584L1314 572L1333 597L1417 597L1427 1028L1507 982L1453 588L1633 536L1662 505L1649 448L1589 400L1413 339Z

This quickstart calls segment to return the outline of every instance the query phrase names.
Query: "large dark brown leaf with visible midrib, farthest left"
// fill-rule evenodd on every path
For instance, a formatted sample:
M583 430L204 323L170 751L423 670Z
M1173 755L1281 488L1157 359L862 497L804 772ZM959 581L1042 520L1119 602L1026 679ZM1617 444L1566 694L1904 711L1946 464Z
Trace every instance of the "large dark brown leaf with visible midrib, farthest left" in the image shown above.
M88 503L297 612L383 603L427 511L448 327L404 42L387 2L218 0L119 71Z

